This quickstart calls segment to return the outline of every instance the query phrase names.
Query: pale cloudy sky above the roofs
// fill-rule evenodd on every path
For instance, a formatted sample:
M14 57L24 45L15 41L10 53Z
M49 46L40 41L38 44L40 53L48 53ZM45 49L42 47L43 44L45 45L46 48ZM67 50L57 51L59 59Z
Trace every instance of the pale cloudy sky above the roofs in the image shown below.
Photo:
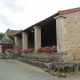
M0 32L24 30L57 13L80 7L80 0L0 0Z

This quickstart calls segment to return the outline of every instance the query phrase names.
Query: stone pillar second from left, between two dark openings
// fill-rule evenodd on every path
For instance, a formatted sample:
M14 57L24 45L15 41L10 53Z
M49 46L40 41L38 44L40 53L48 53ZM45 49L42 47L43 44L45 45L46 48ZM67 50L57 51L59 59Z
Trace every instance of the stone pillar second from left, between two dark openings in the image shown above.
M22 32L22 50L28 49L28 33Z

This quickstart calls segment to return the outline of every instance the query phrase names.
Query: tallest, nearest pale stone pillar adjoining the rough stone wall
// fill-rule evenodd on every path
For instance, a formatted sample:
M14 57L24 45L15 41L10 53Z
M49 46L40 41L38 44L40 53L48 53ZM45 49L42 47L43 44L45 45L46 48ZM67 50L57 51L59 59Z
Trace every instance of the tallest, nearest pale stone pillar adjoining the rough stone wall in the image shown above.
M64 46L64 33L66 32L64 28L65 16L57 16L56 19L56 36L57 36L57 52L65 52Z

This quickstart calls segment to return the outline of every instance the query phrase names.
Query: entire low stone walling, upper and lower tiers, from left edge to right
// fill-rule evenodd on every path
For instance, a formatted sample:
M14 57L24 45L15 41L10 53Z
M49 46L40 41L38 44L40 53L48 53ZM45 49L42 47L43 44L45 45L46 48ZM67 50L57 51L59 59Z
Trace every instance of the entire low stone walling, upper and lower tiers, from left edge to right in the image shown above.
M78 70L78 65L73 62L64 62L62 56L66 55L63 53L28 53L28 54L19 54L19 53L0 53L1 59L17 59L34 66L41 68L48 68L52 70L52 67L64 68L65 66L71 67L74 71Z

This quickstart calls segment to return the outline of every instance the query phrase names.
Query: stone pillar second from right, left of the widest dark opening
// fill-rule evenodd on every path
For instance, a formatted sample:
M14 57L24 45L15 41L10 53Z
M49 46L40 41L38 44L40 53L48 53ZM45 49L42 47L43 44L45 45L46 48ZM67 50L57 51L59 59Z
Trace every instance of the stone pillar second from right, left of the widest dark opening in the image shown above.
M34 46L35 51L41 47L41 28L38 26L34 27Z

